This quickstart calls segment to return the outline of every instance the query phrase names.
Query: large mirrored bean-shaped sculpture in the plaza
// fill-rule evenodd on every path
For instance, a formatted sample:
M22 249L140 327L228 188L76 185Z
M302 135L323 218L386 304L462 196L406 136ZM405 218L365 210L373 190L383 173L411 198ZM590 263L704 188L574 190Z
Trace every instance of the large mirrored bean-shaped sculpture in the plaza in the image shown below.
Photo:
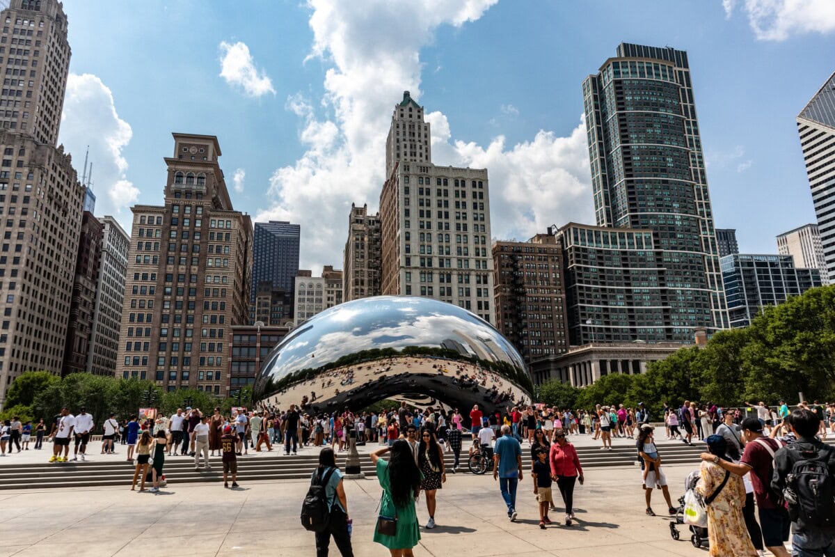
M256 403L331 413L384 398L418 407L473 404L490 412L530 403L519 352L488 322L458 306L376 296L322 311L292 331L256 377Z

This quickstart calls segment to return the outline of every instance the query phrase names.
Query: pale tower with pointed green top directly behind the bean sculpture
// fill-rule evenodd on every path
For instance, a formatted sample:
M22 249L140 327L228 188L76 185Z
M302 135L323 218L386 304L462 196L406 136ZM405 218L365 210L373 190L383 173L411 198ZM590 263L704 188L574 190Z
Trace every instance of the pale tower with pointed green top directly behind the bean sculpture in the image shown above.
M487 170L433 165L430 137L404 92L380 195L382 294L428 296L495 323Z

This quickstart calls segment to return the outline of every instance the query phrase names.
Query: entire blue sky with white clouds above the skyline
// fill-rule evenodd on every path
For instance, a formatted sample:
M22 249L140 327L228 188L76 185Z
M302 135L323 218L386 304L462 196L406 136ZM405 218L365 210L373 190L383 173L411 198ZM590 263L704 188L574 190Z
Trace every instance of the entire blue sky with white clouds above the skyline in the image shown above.
M686 50L717 228L746 253L815 220L795 117L835 71L832 0L65 0L59 141L96 215L161 205L172 132L216 135L235 210L342 267L404 90L433 163L487 168L494 239L594 223L581 84L621 42Z

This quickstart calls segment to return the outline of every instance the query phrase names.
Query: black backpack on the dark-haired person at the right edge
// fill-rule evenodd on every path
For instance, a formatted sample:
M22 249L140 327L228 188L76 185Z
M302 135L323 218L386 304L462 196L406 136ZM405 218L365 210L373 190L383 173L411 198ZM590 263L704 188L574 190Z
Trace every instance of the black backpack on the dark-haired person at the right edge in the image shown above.
M835 481L829 469L832 449L812 453L792 445L787 450L794 463L786 476L783 497L792 522L812 528L835 526Z

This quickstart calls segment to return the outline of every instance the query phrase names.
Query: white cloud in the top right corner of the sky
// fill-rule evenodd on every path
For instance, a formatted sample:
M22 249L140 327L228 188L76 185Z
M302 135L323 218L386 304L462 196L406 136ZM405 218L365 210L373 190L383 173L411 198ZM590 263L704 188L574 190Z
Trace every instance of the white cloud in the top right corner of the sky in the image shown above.
M722 0L728 18L737 4L759 40L783 41L792 34L835 31L832 0Z

